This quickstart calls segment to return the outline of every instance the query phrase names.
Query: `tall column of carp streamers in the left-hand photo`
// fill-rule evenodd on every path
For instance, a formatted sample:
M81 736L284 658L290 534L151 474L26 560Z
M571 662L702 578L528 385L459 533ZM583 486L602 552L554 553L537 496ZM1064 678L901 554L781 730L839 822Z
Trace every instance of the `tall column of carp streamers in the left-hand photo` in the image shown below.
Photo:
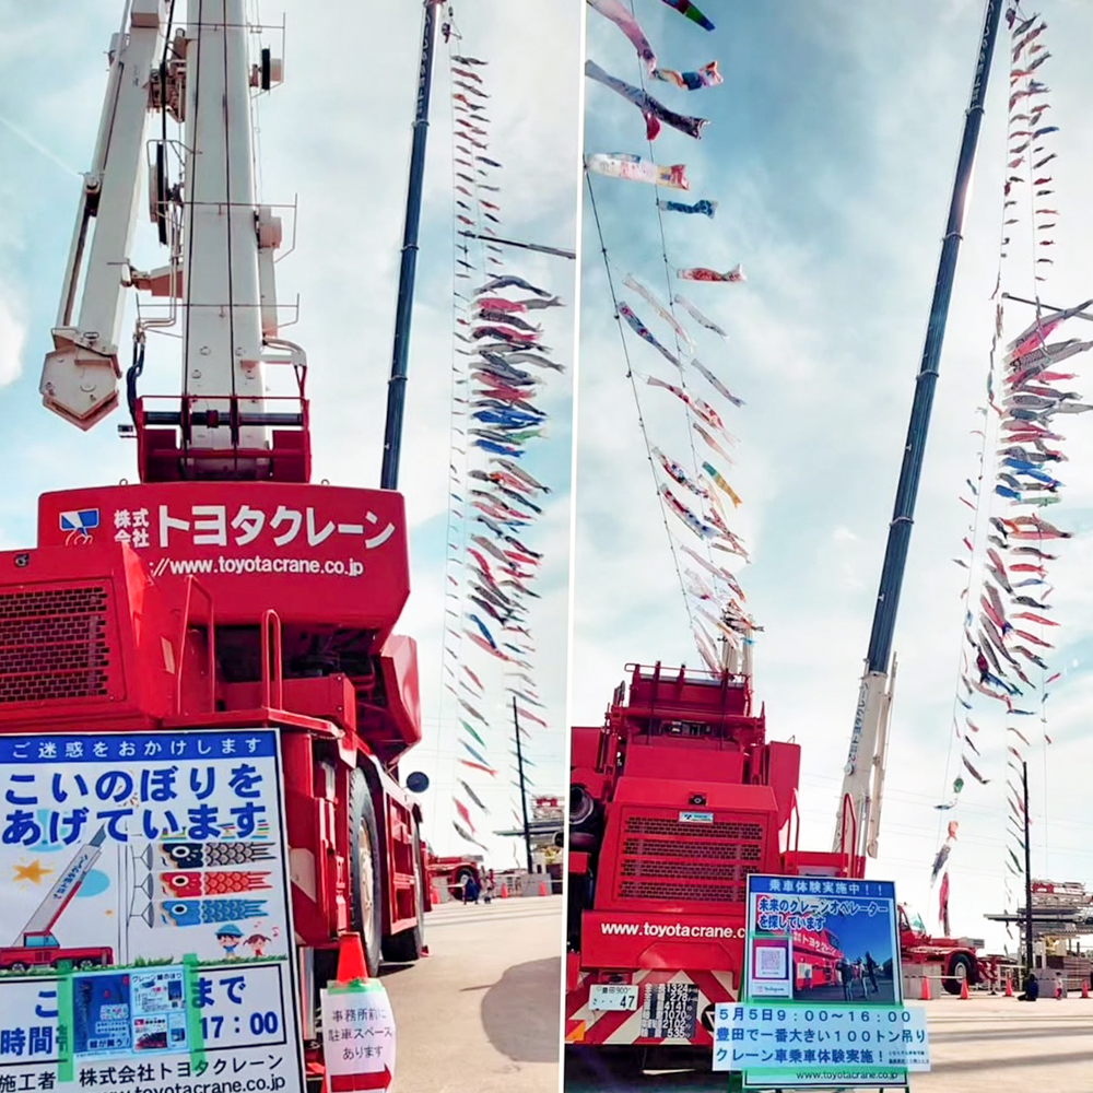
M590 3L619 23L639 56L646 52L640 27L619 0ZM526 251L494 242L504 234L506 156L486 114L491 69L487 59L466 52L466 42L459 48L449 57L457 245L442 716L459 744L451 826L461 842L485 848L491 806L496 810L500 794L508 795L506 804L518 800L514 697L529 753L540 733L557 731L536 682L532 625L543 562L538 528L551 486L524 463L549 442L542 396L566 364L544 330L565 305L541 277L509 267L512 254ZM533 760L526 756L526 765Z

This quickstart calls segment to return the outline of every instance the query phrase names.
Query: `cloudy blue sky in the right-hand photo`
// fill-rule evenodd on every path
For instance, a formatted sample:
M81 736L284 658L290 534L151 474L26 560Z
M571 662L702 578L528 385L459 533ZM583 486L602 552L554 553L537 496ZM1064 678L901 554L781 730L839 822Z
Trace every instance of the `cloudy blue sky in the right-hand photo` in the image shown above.
M739 572L764 627L755 684L768 733L803 748L801 845L830 845L858 680L868 644L888 522L937 271L953 169L983 22L979 0L928 5L894 0L796 4L700 3L706 33L656 0L634 10L662 64L694 69L714 58L725 83L698 92L650 91L673 109L710 119L702 140L667 127L658 163L685 163L684 200L717 200L715 220L665 215L672 266L727 269L743 285L684 286L729 332L696 333L698 357L747 401L727 410L740 437L727 478L743 498L734 526L752 564ZM1093 222L1084 179L1093 167L1085 117L1091 78L1079 43L1093 40L1093 8L1045 3L1043 40L1061 127L1055 200L1060 209L1051 281L1043 298L1089 295L1083 274ZM1032 14L1034 9L1029 9ZM898 682L888 761L881 858L870 875L896 882L929 925L937 907L929 870L941 818L960 821L951 917L957 933L1007 942L983 914L1002 905L1006 751L1002 722L985 715L987 787L971 779L956 812L939 813L956 774L951 708L965 574L952 564L967 510L957 497L975 473L975 408L990 344L1004 166L1008 35L1002 28L988 92L935 403L895 649ZM638 83L630 43L588 14L588 57ZM588 82L586 151L648 155L637 110ZM654 191L593 178L614 277L633 272L665 294ZM674 195L673 195L674 196ZM619 332L587 211L584 220L576 478L573 719L595 725L627 662L698 667L625 379ZM1030 295L1027 265L1012 263L1010 291ZM674 287L674 286L673 286ZM1049 291L1048 291L1049 289ZM678 289L677 289L678 291ZM622 295L626 295L624 292ZM658 336L669 331L630 301ZM1010 337L1032 316L1014 306ZM1084 337L1082 324L1066 337ZM693 329L693 327L692 327ZM1010 332L1012 330L1012 333ZM627 336L630 338L630 336ZM630 338L633 366L671 379L656 352ZM1089 393L1089 362L1073 386ZM654 443L690 458L683 414L668 395L642 392ZM705 396L704 396L705 397ZM714 401L714 399L710 399ZM718 409L724 407L717 402ZM1033 871L1093 881L1089 848L1089 748L1093 685L1088 609L1093 526L1093 423L1067 422L1070 462L1055 522L1076 531L1051 576L1060 627L1053 663L1068 674L1055 692L1055 744L1030 752ZM1045 788L1046 787L1046 788ZM1012 949L1012 942L1010 942Z

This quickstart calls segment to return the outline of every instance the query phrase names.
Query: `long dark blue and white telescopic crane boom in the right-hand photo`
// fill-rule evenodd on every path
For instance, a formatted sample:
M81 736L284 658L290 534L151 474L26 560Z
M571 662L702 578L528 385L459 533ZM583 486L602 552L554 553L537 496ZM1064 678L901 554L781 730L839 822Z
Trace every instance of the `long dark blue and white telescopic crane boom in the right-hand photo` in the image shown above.
M975 79L972 82L972 98L964 117L964 136L960 158L956 164L956 179L949 205L949 221L941 245L938 277L933 285L930 304L930 319L926 329L926 345L915 385L910 424L904 448L900 484L896 489L895 509L889 525L888 548L881 571L880 590L873 612L872 632L869 637L869 654L866 671L858 692L858 706L850 734L850 750L844 768L843 792L839 796L835 816L834 849L836 853L851 853L856 856L877 857L880 833L882 794L884 788L884 766L888 749L888 724L895 683L895 658L892 656L892 638L895 634L896 611L900 591L907 565L907 548L915 518L915 502L926 454L926 435L933 407L933 389L938 379L941 346L944 341L945 321L952 298L956 258L960 252L961 231L964 223L964 204L967 199L975 163L976 145L979 141L979 126L983 120L983 105L987 93L987 77L990 59L998 36L1002 0L987 0L983 34L979 37ZM845 806L849 801L854 809L854 845L846 845L847 825Z

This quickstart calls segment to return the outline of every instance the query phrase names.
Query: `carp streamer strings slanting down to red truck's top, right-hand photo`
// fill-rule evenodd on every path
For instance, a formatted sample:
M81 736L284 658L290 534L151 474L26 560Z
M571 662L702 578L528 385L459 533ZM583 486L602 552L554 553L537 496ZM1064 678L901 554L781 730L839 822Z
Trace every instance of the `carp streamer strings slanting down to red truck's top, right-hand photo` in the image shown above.
M696 26L714 30L705 14L687 0L666 2ZM654 140L663 125L673 126L687 136L700 137L705 120L692 117L690 113L677 113L677 103L685 109L691 102L705 102L709 93L706 89L716 89L724 83L717 62L710 61L693 69L683 66L668 68L660 59L656 43L650 40L647 28L637 24L635 9L628 3L623 0L619 3L615 0L589 0L589 7L626 35L635 47L637 61L636 78L632 82L627 82L628 73L608 73L595 61L587 63L586 75L637 107L646 120L644 136L647 140ZM651 26L649 23L648 30ZM658 87L663 90L663 102L653 98L646 90L650 79L658 81ZM694 92L701 92L701 97L695 98ZM672 95L677 96L674 101L669 97ZM618 106L615 98L590 90L587 101L589 110L610 111L612 121L618 118L618 131L627 131L625 108ZM635 139L634 143L636 145L638 141ZM585 166L593 208L600 202L607 207L616 193L615 188L603 179L628 179L669 189L690 189L685 165L662 167L643 158L636 146L628 152L588 154ZM600 232L612 302L626 345L626 374L637 402L638 427L649 453L695 647L702 662L710 671L719 671L721 655L718 648L727 643L740 653L745 644L750 644L755 630L743 606L741 583L733 572L737 566L747 564L748 549L737 527L738 510L743 510L743 501L728 471L733 466L728 449L738 443L730 432L728 419L744 407L742 391L738 388L747 386L747 380L741 379L740 373L724 360L724 343L728 334L710 317L710 309L716 309L716 301L724 298L718 284L741 283L745 278L741 265L720 271L669 260L666 248L670 235L665 224L669 216L674 219L672 234L692 232L687 257L692 260L701 257L704 243L702 221L713 219L718 207L716 195L706 187L719 179L701 181L706 192L701 199L687 202L657 193L650 201L655 219L644 226L651 237L659 236L662 252L650 256L648 269L635 266L623 273L626 267L615 265L608 254L613 240L604 238L600 219L596 215L591 219ZM634 234L640 234L643 225L628 226ZM627 240L618 242L625 245ZM618 270L619 274L612 277L613 270ZM656 278L660 279L659 284ZM705 283L706 287L700 284L696 293L713 287L708 303L702 296L696 296L700 303L694 303L673 293L677 280ZM616 295L622 289L626 299ZM712 336L719 341L712 341ZM665 362L671 366L670 371L665 368ZM683 434L686 439L683 444L678 439L669 444L658 435L656 423L670 415L679 422L680 414L686 425L686 433Z

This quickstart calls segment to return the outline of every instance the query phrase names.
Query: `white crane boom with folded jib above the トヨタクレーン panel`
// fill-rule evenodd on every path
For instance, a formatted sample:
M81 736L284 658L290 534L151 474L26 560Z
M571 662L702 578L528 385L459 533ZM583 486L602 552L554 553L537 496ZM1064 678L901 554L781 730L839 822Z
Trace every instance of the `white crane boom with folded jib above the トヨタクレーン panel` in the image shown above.
M128 0L126 22L111 40L94 164L81 193L55 350L40 389L45 404L66 420L84 430L96 424L118 402L126 289L167 297L171 316L138 324L137 337L142 341L143 331L156 326L180 327L177 409L145 411L141 400L131 402L142 450L177 444L177 459L161 460L149 473L269 478L271 427L304 433L297 450L308 444L306 357L278 331L273 252L281 220L257 203L255 190L250 96L281 82L281 62L263 49L260 63L251 63L245 0L187 0L185 7L186 28L171 35L165 0ZM171 40L161 60L165 34ZM183 126L180 140L168 142L164 134L149 144L149 114L160 110ZM173 156L181 161L177 185L167 178ZM169 250L167 265L151 272L131 265L145 158L152 164L151 219ZM292 412L268 409L266 372L274 364L295 368ZM150 426L158 430L151 437ZM174 442L165 439L164 426L174 431ZM298 477L307 462L279 477Z

